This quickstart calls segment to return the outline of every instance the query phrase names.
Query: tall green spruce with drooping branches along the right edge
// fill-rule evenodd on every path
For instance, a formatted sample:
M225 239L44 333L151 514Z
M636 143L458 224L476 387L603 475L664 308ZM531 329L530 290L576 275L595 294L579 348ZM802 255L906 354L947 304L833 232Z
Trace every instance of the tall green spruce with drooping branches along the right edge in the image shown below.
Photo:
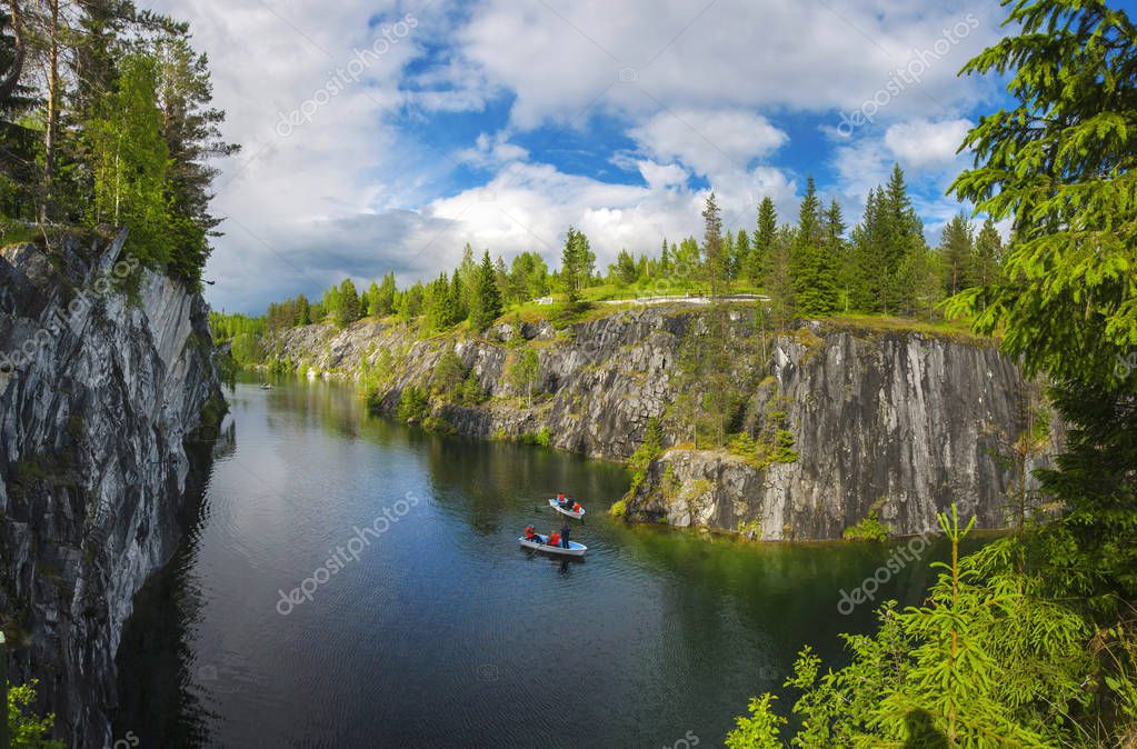
M1098 611L1137 597L1137 27L1101 1L1022 0L1018 30L965 67L1007 77L1013 108L984 117L953 189L1011 218L1004 273L953 298L1028 373L1068 425L1043 491L1061 516L1031 559L1059 594Z

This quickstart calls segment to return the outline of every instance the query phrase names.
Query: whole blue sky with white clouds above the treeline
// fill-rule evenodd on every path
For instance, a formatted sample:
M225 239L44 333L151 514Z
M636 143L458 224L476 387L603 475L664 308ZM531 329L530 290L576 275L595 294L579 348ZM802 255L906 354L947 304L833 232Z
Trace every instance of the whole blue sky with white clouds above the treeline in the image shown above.
M929 238L1002 82L956 72L1004 31L991 0L163 0L208 52L242 152L219 165L215 308L385 271L465 242L556 265L570 225L611 261L731 228L807 175L854 223L894 161Z

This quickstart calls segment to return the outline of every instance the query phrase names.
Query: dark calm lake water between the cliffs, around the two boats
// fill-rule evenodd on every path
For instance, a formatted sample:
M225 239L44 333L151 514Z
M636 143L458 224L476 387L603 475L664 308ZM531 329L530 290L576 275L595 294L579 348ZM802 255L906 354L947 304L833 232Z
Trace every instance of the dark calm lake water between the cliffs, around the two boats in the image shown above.
M234 442L124 632L121 741L721 746L804 644L836 664L839 632L872 629L838 602L888 547L625 526L604 511L622 467L396 425L350 386L246 381L231 403ZM590 510L582 561L516 542L563 524L557 490ZM910 565L883 594L930 581Z

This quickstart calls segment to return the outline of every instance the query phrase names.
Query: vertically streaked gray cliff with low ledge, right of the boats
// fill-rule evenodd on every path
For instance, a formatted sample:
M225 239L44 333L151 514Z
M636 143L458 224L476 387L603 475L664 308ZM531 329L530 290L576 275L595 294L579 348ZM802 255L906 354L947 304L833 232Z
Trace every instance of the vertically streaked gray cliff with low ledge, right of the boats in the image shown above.
M629 498L633 518L735 530L761 538L833 539L878 509L897 534L937 527L953 502L981 527L1006 525L1012 475L996 457L1026 427L1018 367L990 346L916 333L818 328L816 342L781 338L758 388L753 424L782 397L798 459L758 471L724 452L673 450ZM1061 426L1055 426L1055 444ZM1048 460L1031 460L1030 468Z

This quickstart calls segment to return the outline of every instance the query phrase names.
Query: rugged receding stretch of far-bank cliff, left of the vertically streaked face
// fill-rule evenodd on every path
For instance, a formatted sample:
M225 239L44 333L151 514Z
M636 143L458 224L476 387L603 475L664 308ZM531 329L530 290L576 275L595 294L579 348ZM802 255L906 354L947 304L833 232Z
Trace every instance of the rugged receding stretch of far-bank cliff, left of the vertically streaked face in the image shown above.
M686 315L649 310L563 330L501 324L485 336L423 340L402 324L362 321L343 330L285 331L268 348L288 369L308 376L370 377L373 402L384 413L395 413L407 388L429 389L439 360L453 349L485 400L475 407L437 403L435 416L451 430L513 440L547 430L551 447L622 460L639 447L647 419L669 406L677 344L689 323ZM523 347L540 358L531 406L528 388L509 376Z

